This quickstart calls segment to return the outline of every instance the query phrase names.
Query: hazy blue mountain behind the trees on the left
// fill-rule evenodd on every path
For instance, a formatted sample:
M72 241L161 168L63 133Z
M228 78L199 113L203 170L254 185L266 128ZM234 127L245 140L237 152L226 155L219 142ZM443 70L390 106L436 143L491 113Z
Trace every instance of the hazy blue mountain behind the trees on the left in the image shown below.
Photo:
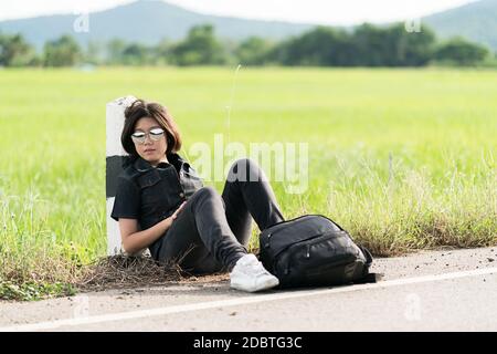
M155 44L163 38L184 38L194 24L212 23L220 38L239 40L250 35L282 39L298 34L311 24L245 20L207 15L163 1L140 0L101 12L89 13L89 32L73 30L77 14L57 14L0 22L2 32L21 32L29 42L41 48L46 40L64 33L72 34L80 43L88 40L104 42L113 38Z

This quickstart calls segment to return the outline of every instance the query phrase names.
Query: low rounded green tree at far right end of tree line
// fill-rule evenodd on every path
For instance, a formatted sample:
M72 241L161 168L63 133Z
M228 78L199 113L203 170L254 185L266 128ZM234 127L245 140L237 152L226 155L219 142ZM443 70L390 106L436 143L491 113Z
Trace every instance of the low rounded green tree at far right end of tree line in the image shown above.
M457 65L475 65L484 61L487 55L488 50L485 46L463 38L454 38L442 43L435 52L436 60Z

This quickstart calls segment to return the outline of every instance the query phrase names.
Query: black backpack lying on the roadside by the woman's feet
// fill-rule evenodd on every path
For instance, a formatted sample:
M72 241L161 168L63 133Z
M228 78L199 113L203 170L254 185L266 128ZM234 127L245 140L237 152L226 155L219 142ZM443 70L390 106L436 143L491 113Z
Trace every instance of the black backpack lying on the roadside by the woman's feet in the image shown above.
M320 215L275 223L260 235L260 260L278 288L376 282L371 253Z

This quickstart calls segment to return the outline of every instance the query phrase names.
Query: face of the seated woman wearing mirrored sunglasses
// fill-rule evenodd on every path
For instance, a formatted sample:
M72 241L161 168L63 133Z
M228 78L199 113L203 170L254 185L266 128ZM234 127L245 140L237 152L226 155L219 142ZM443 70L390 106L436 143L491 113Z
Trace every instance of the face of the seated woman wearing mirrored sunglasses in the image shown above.
M163 160L166 157L166 149L168 147L166 142L166 132L162 135L158 135L161 129L159 123L151 117L142 117L138 119L135 126L135 133L145 133L145 142L134 142L135 148L138 155L145 160L149 162L150 165L156 166ZM151 133L150 133L151 131Z

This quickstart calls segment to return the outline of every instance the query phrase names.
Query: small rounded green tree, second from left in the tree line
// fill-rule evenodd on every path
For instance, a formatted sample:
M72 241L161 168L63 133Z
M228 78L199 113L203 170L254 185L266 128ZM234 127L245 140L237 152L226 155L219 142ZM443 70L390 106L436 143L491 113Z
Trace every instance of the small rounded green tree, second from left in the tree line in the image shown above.
M43 48L45 66L72 66L81 61L82 55L80 45L70 35L49 41Z

